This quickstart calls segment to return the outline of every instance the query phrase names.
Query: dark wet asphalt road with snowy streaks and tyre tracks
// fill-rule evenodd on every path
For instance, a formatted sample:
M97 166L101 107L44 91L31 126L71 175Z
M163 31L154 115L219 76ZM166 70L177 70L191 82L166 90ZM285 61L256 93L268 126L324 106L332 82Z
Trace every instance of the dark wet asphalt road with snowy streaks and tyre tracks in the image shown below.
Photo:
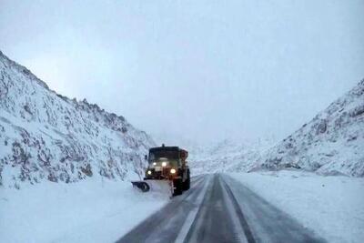
M193 177L191 188L132 229L123 242L325 242L238 181Z

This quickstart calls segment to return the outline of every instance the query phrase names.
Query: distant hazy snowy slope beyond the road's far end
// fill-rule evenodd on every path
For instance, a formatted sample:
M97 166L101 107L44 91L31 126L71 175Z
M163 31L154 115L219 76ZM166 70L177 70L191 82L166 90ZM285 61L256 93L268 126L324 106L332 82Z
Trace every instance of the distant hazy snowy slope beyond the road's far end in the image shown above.
M189 150L189 165L193 175L226 171L248 171L271 147L273 138L237 142L225 139L205 147Z

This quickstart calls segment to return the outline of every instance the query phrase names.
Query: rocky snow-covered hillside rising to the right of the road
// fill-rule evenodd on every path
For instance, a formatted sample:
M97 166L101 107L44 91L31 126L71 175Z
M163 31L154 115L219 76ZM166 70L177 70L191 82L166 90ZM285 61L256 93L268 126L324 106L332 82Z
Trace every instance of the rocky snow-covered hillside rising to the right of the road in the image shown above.
M364 80L257 163L257 168L364 177Z

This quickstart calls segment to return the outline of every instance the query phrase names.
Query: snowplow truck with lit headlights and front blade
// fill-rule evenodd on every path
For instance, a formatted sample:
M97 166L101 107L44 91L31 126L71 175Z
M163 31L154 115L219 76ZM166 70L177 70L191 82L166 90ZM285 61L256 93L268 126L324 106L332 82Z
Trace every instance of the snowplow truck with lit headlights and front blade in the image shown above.
M170 196L181 195L190 187L187 166L188 152L179 147L152 147L146 156L148 167L142 181L132 181L143 192L162 191Z

